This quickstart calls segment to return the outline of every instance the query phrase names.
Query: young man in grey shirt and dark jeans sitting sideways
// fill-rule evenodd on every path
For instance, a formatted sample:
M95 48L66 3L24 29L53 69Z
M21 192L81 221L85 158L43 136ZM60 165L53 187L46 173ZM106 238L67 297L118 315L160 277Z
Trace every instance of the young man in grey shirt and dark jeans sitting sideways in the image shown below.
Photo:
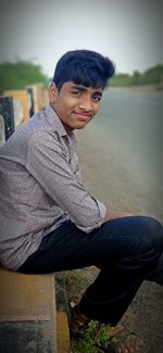
M72 308L72 335L90 319L115 326L150 274L161 282L162 225L112 211L80 178L74 130L95 117L113 74L112 62L97 52L65 53L55 67L50 105L0 151L2 266L29 274L101 269ZM122 345L118 352L131 349Z

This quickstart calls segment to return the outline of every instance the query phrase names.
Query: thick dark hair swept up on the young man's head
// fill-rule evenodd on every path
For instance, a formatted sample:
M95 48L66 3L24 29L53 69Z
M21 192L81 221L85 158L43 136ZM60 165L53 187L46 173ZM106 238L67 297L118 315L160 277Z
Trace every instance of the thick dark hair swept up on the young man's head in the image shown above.
M59 90L66 81L103 89L113 75L114 65L109 58L91 50L74 50L58 61L52 80Z

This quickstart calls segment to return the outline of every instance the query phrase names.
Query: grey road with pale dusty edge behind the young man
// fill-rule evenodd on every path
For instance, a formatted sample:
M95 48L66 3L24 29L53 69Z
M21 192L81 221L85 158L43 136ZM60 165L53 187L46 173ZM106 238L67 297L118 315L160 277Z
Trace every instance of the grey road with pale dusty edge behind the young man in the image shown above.
M109 206L163 220L163 91L110 88L77 133L88 189Z

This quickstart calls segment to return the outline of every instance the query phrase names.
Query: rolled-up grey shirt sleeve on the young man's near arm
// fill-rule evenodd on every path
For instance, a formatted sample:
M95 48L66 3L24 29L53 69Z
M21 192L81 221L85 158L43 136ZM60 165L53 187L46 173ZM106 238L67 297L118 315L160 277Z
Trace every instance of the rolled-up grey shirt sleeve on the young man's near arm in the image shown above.
M100 227L105 206L93 198L74 175L67 155L53 133L37 131L28 142L27 171L45 192L82 230Z

